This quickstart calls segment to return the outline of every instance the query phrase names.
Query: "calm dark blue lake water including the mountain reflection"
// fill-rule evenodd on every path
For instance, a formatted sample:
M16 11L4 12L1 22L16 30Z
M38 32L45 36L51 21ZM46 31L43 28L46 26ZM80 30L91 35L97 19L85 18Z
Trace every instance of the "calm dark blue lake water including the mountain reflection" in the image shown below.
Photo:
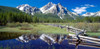
M8 37L8 39L3 39L6 37ZM17 35L17 36L7 35L3 38L0 36L1 49L5 49L5 48L7 49L75 49L75 45L68 44L67 35L26 34L26 35ZM78 46L78 49L100 49L100 48Z

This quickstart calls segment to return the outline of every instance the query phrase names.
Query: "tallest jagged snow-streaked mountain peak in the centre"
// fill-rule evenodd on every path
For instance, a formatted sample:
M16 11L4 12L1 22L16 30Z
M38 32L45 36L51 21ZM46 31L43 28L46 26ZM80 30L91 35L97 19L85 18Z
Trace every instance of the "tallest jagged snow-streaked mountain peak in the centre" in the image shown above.
M41 7L40 10L42 13L45 14L57 14L61 19L65 18L65 15L69 15L70 17L75 19L75 17L73 16L74 14L70 12L67 8L63 7L60 3L53 4L52 2L49 2L47 5Z

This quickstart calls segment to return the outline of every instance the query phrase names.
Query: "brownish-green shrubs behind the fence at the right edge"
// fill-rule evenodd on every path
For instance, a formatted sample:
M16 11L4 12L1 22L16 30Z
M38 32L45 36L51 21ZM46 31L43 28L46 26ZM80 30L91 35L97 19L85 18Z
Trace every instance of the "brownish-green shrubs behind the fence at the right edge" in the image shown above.
M75 24L75 27L90 32L98 32L100 29L100 23L77 23Z

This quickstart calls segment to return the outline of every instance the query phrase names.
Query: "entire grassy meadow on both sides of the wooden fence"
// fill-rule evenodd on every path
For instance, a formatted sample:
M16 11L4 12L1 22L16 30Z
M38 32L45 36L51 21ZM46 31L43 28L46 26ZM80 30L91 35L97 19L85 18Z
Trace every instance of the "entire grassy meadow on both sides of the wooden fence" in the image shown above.
M46 24L46 23L45 23ZM48 23L47 23L48 24ZM86 29L89 36L100 36L100 23L54 23L58 25L70 25L79 29ZM95 25L92 25L95 24ZM96 25L97 24L97 25ZM90 29L92 26L92 29ZM93 28L93 26L98 28ZM90 27L90 28L89 28ZM93 29L96 29L95 32ZM94 32L93 32L94 31ZM59 27L44 25L43 23L8 23L6 26L0 27L0 32L13 32L13 33L53 33L53 34L68 34L67 30Z

